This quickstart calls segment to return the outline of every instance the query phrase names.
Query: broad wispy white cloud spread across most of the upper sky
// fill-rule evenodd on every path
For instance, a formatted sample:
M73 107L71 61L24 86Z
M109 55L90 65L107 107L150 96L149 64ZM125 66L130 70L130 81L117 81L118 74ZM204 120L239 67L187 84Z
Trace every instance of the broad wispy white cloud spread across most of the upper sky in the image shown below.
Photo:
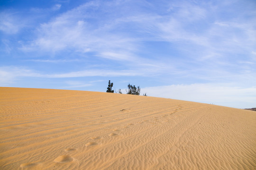
M150 3L135 3L138 7L134 11L129 11L127 4L132 2L91 1L73 8L42 24L37 38L22 49L93 52L94 56L121 61L131 56L133 60L143 58L137 55L142 42L165 41L183 53L187 51L193 60L220 61L230 58L230 54L251 51L256 43L251 19L222 21L217 15L220 9L210 2L164 3L165 8L158 11L155 7L153 13ZM212 15L217 17L212 19Z

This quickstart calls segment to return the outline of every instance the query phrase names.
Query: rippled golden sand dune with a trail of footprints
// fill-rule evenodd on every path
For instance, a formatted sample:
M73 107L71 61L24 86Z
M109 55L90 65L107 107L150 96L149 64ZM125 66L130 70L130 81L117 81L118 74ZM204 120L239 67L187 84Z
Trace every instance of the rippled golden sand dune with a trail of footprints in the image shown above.
M1 170L254 170L256 112L0 87Z

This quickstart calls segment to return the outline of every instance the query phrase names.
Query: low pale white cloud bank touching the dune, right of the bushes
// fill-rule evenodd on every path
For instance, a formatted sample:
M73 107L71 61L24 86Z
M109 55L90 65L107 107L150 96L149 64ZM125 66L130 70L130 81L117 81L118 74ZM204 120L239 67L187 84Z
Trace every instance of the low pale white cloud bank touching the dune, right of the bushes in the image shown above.
M231 84L192 84L146 87L141 93L192 102L235 108L251 108L256 104L256 86L238 87Z

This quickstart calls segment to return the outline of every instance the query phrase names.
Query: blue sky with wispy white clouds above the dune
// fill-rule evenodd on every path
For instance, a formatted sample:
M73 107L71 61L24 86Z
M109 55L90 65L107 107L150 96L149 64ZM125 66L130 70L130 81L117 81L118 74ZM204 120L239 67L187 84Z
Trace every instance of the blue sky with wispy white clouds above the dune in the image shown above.
M255 0L0 0L0 86L256 107Z

